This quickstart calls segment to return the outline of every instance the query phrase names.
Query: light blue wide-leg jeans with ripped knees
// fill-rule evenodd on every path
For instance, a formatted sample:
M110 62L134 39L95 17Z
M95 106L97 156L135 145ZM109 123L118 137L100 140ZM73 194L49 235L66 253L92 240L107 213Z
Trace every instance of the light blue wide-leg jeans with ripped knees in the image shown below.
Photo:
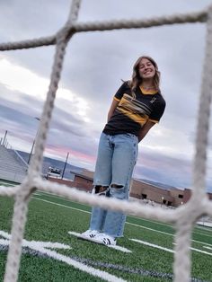
M128 199L134 166L137 162L138 139L133 134L110 136L102 133L93 177L93 185L108 186L106 197ZM118 186L113 187L113 186ZM102 197L102 196L100 196ZM93 207L90 229L121 237L126 215Z

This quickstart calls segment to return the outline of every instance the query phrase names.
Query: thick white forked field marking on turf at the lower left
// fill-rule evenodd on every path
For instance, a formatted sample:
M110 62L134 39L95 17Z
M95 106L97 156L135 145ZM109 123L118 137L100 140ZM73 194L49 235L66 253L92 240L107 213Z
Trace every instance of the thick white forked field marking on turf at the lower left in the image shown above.
M0 245L3 246L9 246L11 234L8 234L4 231L0 230L0 236L4 237L5 239L0 239ZM39 251L40 253L43 253L45 255L48 255L49 258L52 258L54 260L63 261L68 265L73 266L75 269L80 269L88 274L91 274L94 277L102 278L103 280L109 281L109 282L127 282L126 280L122 278L118 278L114 275L111 275L110 273L106 271L102 271L99 269L94 269L93 267L84 265L84 263L81 263L77 260L73 260L69 257L66 257L65 255L62 255L58 253L57 251L52 251L47 248L60 248L60 249L71 249L70 246L65 245L63 243L59 242L37 242L37 241L27 241L22 240L22 247L28 247L31 250Z

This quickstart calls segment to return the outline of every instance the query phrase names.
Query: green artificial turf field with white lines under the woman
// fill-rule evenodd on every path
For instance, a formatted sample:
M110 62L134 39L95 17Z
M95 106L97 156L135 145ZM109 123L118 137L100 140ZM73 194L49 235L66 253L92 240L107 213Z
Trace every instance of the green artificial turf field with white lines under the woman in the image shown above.
M4 240L4 245L0 243L0 278L3 279L13 199L1 197L0 207L0 239ZM104 278L106 281L121 281L118 278L172 281L174 229L171 225L128 216L125 236L119 239L118 245L131 252L123 252L77 239L75 234L88 227L90 211L91 207L64 198L40 191L34 193L29 205L19 281L97 282L105 281ZM196 278L193 281L212 281L212 229L196 227L192 248L195 248L192 278Z

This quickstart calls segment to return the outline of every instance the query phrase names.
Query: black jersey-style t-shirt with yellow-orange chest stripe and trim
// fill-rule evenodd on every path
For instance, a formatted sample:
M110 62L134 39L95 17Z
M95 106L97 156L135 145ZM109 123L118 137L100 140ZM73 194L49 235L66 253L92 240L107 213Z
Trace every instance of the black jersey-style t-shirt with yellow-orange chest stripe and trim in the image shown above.
M114 99L119 105L103 129L109 135L131 133L138 136L146 121L159 122L165 109L161 93L145 93L137 87L133 95L128 82L119 87Z

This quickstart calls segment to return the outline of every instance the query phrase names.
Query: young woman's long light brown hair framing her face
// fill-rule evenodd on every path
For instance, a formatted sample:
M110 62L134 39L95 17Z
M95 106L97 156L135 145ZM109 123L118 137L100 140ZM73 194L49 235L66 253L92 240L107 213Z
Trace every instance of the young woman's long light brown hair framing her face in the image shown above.
M160 84L160 75L161 74L158 70L158 66L157 66L155 60L152 57L149 57L149 56L138 57L135 65L133 66L132 79L129 81L129 86L130 86L132 92L134 92L136 90L137 86L142 84L142 77L139 75L139 71L138 71L139 63L140 63L142 58L148 59L153 64L153 66L155 66L154 86L158 90L158 92L160 93L159 84Z

